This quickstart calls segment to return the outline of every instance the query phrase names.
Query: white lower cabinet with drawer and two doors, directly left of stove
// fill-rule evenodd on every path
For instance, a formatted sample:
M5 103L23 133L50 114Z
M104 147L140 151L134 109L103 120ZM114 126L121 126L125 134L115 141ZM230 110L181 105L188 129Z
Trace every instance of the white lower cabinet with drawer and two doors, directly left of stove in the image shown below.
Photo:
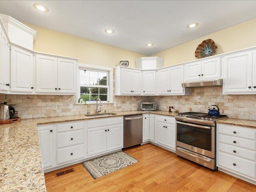
M155 115L155 142L166 148L176 148L176 125L175 118Z

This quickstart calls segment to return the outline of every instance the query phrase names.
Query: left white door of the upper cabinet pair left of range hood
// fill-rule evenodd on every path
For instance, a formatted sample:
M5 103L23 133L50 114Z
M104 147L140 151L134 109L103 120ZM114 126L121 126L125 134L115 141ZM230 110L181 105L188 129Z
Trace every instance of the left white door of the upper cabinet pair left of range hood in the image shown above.
M169 94L170 91L170 71L169 68L158 70L157 72L157 92L158 94Z

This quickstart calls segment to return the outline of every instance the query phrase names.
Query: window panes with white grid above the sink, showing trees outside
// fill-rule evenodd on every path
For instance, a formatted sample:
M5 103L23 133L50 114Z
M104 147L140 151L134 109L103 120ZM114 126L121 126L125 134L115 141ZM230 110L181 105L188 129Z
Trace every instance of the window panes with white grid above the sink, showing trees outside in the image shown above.
M97 98L109 101L108 72L79 69L80 98L85 102L95 102Z

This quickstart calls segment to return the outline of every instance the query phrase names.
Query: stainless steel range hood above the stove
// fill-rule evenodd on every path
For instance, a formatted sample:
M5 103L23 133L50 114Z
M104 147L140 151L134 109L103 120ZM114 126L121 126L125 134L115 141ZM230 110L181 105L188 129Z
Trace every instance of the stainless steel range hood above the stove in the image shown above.
M182 87L187 87L187 88L215 87L215 86L222 86L222 79L182 83Z

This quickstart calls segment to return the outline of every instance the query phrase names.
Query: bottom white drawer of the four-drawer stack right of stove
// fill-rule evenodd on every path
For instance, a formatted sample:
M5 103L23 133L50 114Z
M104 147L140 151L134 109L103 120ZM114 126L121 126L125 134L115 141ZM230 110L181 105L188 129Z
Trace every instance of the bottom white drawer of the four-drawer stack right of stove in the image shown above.
M218 166L255 178L256 162L218 152Z

